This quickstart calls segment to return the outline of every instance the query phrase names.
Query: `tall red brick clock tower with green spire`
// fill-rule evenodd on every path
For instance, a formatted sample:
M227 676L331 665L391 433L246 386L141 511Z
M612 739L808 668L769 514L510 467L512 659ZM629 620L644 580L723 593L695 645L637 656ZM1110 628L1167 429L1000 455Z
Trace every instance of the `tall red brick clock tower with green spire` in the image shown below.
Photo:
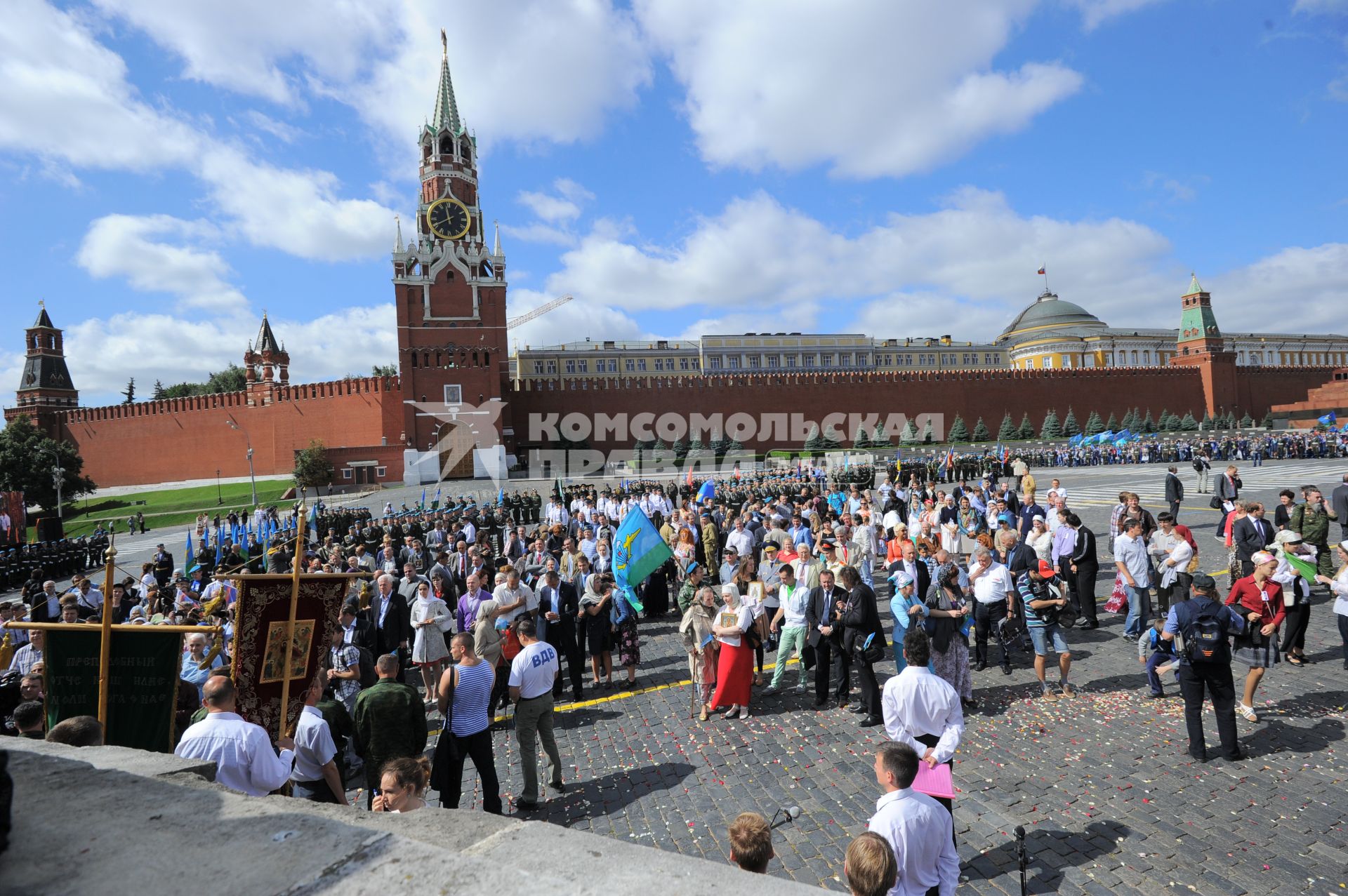
M485 476L497 462L504 470L500 442L508 426L506 256L499 229L487 244L477 139L458 115L443 30L439 36L435 110L419 140L417 224L404 244L399 222L392 256L407 482ZM453 449L473 438L468 422L479 435L462 454ZM496 430L495 447L484 447L487 426Z

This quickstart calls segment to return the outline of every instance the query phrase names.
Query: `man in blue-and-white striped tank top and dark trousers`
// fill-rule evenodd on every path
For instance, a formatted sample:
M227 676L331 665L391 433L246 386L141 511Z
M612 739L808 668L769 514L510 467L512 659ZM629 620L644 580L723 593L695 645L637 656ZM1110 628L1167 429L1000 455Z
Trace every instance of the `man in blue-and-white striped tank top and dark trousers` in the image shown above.
M454 664L441 675L438 689L439 713L448 725L435 744L431 786L439 791L442 807L458 808L464 759L472 759L483 781L483 808L500 815L500 781L492 755L492 717L488 710L496 670L473 652L473 636L468 632L454 636L449 652Z

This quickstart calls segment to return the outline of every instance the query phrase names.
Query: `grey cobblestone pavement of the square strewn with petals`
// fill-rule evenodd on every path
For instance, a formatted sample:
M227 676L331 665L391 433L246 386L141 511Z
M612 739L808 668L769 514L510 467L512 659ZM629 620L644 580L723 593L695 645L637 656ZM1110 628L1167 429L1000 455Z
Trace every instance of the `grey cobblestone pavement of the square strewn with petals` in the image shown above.
M1317 476L1328 490L1348 468L1242 466L1250 494L1270 500L1277 488ZM1037 470L1042 488L1051 478L1043 473ZM1070 503L1104 532L1113 494L1130 486L1158 493L1163 468L1061 473ZM1186 505L1205 501L1190 496ZM1216 513L1204 507L1186 516L1200 547L1215 544ZM1205 550L1204 569L1224 559ZM1076 701L1039 699L1029 655L1016 658L1011 676L996 667L975 675L979 709L967 718L954 768L961 888L1019 892L1014 830L1023 825L1033 893L1344 892L1348 671L1329 601L1320 597L1312 609L1306 651L1314 662L1271 670L1259 691L1260 721L1239 719L1248 753L1242 763L1188 757L1178 689L1167 684L1166 699L1147 699L1136 648L1120 637L1123 617L1103 618L1097 631L1068 632ZM588 689L599 699L558 713L568 790L524 817L727 861L725 827L736 814L799 806L798 819L776 827L771 873L845 891L842 852L875 808L871 757L883 729L859 728L845 710L811 710L813 686L755 699L748 721L698 722L690 689L678 684L687 675L674 627L673 616L642 624L642 690ZM882 683L894 668L878 666ZM1206 722L1215 737L1211 711ZM514 732L499 732L495 749L514 811L522 788ZM470 764L469 806L480 807Z

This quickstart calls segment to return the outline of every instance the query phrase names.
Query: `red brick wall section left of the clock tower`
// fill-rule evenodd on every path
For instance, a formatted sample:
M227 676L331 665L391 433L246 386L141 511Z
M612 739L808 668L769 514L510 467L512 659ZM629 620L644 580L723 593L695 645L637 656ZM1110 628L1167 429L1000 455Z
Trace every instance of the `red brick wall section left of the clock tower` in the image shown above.
M256 404L249 404L252 400ZM244 430L229 427L233 419ZM252 442L257 476L290 473L294 453L310 439L329 447L380 446L396 450L402 480L403 403L399 380L363 377L185 399L77 408L61 414L65 438L84 458L84 472L101 486L248 476ZM344 451L355 459L357 453ZM380 453L380 462L388 453ZM375 451L371 458L376 459ZM341 474L338 473L338 477ZM338 482L341 480L338 478Z

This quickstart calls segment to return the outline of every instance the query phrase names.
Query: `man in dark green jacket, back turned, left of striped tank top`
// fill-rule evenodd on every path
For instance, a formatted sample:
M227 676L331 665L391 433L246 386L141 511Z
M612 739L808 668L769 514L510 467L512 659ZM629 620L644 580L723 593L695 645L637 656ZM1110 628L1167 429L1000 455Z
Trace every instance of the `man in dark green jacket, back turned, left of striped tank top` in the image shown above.
M426 705L398 682L398 656L375 660L379 682L356 697L356 753L365 760L365 803L372 803L384 763L426 750Z

